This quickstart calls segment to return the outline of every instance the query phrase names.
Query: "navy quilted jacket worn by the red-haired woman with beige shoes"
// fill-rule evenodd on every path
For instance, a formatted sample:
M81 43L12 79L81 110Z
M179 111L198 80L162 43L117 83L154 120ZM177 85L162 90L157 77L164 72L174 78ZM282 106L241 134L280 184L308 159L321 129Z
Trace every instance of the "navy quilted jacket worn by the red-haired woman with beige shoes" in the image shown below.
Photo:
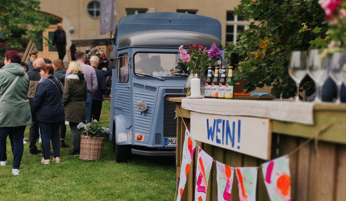
M55 85L48 79L53 80ZM65 120L64 106L61 101L63 90L54 76L37 85L33 111L40 122L61 122Z

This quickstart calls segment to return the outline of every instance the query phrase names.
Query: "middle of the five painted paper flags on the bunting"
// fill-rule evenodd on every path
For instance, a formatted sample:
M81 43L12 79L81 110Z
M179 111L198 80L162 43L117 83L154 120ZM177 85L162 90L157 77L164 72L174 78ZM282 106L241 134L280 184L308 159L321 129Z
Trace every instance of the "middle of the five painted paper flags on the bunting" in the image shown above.
M233 184L233 167L216 161L218 201L230 201Z

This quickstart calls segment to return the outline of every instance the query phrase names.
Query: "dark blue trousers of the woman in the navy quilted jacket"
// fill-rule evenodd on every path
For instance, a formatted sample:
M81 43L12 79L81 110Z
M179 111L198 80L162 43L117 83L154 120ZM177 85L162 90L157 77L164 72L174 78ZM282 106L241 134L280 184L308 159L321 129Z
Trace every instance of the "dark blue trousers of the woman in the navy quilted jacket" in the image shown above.
M39 122L42 134L42 149L45 160L50 159L51 141L54 157L60 156L60 122Z

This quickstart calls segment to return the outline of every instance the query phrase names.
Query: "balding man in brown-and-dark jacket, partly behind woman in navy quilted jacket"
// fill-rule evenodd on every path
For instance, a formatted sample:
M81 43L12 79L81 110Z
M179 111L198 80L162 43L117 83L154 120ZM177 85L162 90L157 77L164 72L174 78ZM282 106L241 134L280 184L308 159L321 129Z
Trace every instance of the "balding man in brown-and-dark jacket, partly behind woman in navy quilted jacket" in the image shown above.
M33 124L31 124L30 130L29 130L29 154L38 154L41 153L42 150L37 149L36 142L37 138L39 137L38 133L38 121L36 119L36 114L33 111L33 101L36 93L36 88L39 83L39 80L41 79L40 76L40 66L42 66L44 63L44 60L42 58L38 58L35 60L35 68L28 71L28 76L30 80L30 86L29 86L29 104L31 109L31 117L33 119Z

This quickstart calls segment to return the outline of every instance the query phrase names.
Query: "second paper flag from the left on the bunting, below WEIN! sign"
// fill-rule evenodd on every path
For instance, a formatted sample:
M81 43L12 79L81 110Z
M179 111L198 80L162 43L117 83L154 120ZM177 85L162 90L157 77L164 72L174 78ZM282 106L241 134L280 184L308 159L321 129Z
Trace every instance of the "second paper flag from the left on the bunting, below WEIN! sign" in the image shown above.
M213 158L204 152L201 148L198 150L195 201L205 201L207 197L208 180L210 175Z

